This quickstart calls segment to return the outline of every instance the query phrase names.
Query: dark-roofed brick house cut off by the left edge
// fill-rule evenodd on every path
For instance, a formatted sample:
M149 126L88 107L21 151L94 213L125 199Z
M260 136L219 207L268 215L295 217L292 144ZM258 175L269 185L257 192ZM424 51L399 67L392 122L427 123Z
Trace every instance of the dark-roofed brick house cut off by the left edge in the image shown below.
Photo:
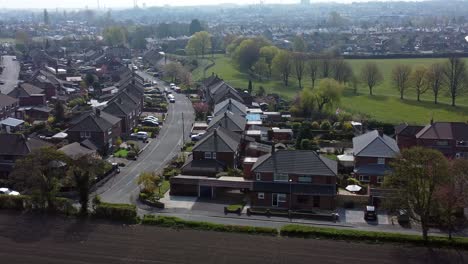
M17 159L52 145L37 138L26 138L22 134L0 134L0 146L0 178L6 179Z

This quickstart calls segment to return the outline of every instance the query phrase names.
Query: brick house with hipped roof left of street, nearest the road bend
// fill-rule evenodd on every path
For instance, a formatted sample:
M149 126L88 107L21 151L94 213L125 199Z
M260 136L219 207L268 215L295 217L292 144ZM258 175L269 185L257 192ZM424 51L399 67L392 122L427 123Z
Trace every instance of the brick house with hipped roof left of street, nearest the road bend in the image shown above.
M67 133L70 142L89 139L105 154L122 134L121 119L95 109L73 120Z

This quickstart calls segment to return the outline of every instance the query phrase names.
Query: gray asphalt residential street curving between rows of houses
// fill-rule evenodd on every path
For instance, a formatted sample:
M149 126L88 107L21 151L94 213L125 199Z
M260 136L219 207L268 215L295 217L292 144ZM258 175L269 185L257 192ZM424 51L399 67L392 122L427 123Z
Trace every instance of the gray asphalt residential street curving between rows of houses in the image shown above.
M154 80L146 73L139 73L145 79ZM162 81L159 87L164 89ZM182 94L175 94L176 102L168 104L168 117L159 135L152 140L136 161L121 168L120 174L99 187L95 194L106 202L135 203L139 187L136 180L141 172L161 169L180 152L183 145L182 123L184 123L185 139L189 139L190 129L194 121L194 112L190 100ZM182 113L184 122L182 122Z

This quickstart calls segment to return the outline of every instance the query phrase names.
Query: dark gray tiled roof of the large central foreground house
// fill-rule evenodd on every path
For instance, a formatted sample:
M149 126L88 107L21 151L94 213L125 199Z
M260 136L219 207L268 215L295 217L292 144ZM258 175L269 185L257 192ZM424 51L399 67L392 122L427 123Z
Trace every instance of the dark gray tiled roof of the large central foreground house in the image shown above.
M254 172L336 176L335 161L309 150L278 150L261 156L252 167Z

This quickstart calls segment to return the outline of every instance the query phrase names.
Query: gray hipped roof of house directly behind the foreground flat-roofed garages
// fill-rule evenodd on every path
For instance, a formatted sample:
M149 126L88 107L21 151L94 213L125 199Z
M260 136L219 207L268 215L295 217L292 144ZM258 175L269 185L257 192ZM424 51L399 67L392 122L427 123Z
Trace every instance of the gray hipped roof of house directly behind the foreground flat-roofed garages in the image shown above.
M213 129L193 147L193 151L236 152L241 136L223 127Z

